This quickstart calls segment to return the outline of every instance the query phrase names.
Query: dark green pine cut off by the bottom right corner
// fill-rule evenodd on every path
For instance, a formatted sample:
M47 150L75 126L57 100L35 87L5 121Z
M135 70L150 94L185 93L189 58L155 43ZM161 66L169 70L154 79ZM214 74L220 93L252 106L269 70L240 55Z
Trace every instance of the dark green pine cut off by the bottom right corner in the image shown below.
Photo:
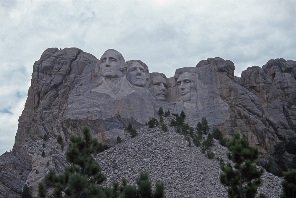
M281 185L283 186L283 194L281 198L295 198L296 197L296 170L288 169L284 173L284 180Z

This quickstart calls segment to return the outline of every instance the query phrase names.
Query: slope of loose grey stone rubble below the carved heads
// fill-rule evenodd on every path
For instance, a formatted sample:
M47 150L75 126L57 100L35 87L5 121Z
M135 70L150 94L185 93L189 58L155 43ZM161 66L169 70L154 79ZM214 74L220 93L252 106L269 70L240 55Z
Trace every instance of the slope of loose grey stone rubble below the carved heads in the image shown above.
M224 186L219 181L220 161L228 162L227 148L215 140L211 151L215 158L208 159L200 147L189 147L184 136L169 126L173 117L164 118L168 131L160 126L138 129L134 138L126 137L122 143L96 156L107 180L106 186L126 178L128 184L136 185L135 178L140 172L148 172L152 185L157 181L165 184L166 197L227 197ZM204 136L206 138L206 136ZM263 175L263 183L258 192L267 197L279 197L281 180L268 172Z

